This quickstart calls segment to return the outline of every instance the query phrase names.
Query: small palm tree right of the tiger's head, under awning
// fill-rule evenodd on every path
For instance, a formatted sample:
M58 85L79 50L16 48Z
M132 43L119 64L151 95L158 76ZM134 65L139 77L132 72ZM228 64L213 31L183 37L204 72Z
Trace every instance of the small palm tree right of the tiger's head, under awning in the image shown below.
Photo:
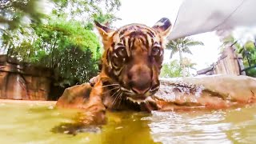
M192 52L190 51L191 46L203 46L203 45L204 44L202 42L194 41L193 39L187 38L187 37L170 40L167 43L166 49L171 50L170 58L172 58L174 56L174 54L176 54L176 53L179 54L179 63L182 68L182 76L183 77L186 76L186 72L184 70L185 67L182 64L182 62L183 62L182 54L183 53L192 54Z

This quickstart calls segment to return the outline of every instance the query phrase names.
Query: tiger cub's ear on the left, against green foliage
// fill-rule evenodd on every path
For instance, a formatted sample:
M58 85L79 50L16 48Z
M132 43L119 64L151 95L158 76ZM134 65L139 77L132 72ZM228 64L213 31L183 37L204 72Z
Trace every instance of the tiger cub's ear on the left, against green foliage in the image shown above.
M103 26L97 21L94 21L96 28L98 29L98 33L102 36L102 42L104 47L108 47L107 44L110 43L110 37L114 33L114 30L108 28L107 26Z

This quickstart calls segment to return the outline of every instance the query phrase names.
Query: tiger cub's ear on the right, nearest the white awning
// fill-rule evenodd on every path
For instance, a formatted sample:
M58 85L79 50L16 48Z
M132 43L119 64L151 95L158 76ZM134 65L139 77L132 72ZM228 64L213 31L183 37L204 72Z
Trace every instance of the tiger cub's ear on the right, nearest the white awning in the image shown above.
M158 32L162 37L167 37L170 34L171 23L168 18L161 18L157 23L152 27Z

